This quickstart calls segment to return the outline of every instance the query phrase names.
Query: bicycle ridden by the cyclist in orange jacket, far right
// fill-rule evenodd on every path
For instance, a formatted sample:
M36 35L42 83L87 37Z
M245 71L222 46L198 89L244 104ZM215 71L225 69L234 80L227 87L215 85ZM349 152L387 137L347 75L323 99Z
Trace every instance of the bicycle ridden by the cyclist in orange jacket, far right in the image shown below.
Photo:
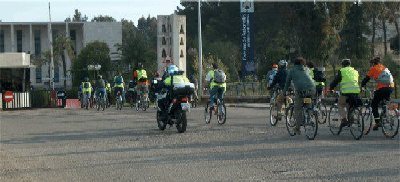
M366 89L365 92L369 93L369 97L363 108L364 110L363 117L366 118L366 120L369 123L368 125L366 125L366 129L364 130L364 135L368 135L369 132L371 131L372 123L375 123L375 118L372 114L372 107L371 107L373 92L370 89ZM396 107L394 107L393 109L389 109L389 105L390 101L388 100L382 100L379 103L379 110L380 110L379 118L382 125L382 133L387 138L394 138L399 132L400 113L398 108Z

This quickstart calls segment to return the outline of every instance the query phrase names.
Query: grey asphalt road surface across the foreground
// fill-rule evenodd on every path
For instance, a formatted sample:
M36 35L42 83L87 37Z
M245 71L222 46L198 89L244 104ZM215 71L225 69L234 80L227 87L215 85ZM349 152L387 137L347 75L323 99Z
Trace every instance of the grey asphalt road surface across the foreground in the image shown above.
M154 109L0 114L0 181L400 181L399 137L290 137L265 108L230 107L222 126L195 108L183 134Z

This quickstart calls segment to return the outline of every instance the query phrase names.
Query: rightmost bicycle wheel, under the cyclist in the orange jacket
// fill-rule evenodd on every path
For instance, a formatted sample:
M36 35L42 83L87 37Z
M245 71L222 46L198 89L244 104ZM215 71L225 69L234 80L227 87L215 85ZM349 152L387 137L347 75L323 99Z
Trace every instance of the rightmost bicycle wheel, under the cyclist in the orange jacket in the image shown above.
M384 118L385 117L385 118ZM381 117L382 132L387 138L394 138L399 132L400 113L398 110L388 110Z

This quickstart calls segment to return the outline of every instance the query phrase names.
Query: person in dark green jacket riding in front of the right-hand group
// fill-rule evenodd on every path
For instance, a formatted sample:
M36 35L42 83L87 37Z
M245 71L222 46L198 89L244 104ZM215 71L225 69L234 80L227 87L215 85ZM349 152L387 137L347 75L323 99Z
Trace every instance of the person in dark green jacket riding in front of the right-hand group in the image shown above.
M313 97L315 84L310 76L310 70L305 67L306 60L298 57L294 60L294 67L288 71L283 93L286 94L293 82L295 92L294 119L296 120L295 133L300 135L300 125L303 123L303 98Z

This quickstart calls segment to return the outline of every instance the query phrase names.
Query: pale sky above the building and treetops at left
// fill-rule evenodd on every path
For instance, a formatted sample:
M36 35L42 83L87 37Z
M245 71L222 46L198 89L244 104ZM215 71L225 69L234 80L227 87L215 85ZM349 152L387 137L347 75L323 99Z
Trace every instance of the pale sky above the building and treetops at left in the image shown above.
M134 21L148 15L169 15L180 6L180 0L0 0L0 20L3 22L49 21L48 3L51 3L52 21L73 17L75 9L89 21L98 15L109 15L120 21Z

